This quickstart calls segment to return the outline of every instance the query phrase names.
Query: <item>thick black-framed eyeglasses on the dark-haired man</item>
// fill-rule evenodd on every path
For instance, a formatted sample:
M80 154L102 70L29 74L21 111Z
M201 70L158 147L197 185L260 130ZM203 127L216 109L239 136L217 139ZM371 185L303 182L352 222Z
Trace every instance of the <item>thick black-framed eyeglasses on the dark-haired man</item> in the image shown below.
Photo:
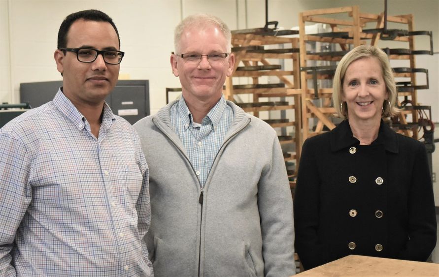
M119 64L125 53L117 50L96 50L93 48L61 48L61 51L76 53L79 62L94 62L98 55L102 55L103 61L108 64Z

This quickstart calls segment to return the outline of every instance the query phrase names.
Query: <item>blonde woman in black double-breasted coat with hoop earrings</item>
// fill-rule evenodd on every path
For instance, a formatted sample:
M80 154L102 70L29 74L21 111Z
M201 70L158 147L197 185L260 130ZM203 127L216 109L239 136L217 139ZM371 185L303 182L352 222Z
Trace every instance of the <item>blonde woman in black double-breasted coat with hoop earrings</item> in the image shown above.
M304 142L294 199L305 269L356 254L425 261L436 245L422 143L382 121L398 112L386 54L362 45L339 62L334 105L345 120Z

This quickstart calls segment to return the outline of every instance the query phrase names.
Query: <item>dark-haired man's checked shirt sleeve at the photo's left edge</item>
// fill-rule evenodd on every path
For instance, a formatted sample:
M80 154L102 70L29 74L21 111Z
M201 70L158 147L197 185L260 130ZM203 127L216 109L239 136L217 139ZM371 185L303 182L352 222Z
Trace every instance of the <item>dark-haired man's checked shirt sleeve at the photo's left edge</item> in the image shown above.
M28 184L31 159L26 146L8 133L0 133L0 149L0 272L16 276L11 250L32 199Z

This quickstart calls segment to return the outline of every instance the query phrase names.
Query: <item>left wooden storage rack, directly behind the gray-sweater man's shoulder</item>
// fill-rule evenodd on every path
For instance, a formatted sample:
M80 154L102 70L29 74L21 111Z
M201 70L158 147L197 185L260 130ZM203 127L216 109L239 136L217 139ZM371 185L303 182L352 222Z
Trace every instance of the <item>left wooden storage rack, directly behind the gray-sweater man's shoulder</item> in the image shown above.
M287 31L288 34L297 31ZM254 32L232 31L232 52L236 62L232 77L226 80L224 94L229 100L236 96L248 98L247 103L237 103L246 112L256 117L262 111L287 111L294 114L291 118L266 120L273 128L285 133L291 129L293 135L279 136L282 148L294 144L294 151L285 151L285 162L293 162L296 167L300 158L301 138L301 89L299 75L299 39L285 37L278 33L258 34ZM275 62L283 63L274 64ZM287 67L288 69L282 68ZM278 83L269 83L267 79L274 78ZM273 78L271 78L273 79ZM237 83L250 83L237 85ZM271 101L271 97L280 97L281 101ZM265 99L269 99L266 102ZM288 169L288 167L287 167ZM295 180L296 173L288 170L290 180ZM292 181L290 185L295 183Z

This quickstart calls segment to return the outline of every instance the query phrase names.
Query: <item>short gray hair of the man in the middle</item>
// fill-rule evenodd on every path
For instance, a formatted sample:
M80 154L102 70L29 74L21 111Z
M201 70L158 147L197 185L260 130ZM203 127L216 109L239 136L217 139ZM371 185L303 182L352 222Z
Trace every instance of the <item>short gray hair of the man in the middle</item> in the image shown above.
M227 52L230 53L232 51L232 46L231 46L231 40L232 40L232 32L230 31L229 27L227 27L226 23L224 23L224 21L222 21L221 19L219 19L216 16L213 15L209 15L209 14L194 14L194 15L190 15L188 17L186 17L185 19L183 19L178 25L177 27L175 27L175 31L174 31L174 51L175 54L178 53L179 49L179 43L180 43L180 38L181 35L183 34L183 31L186 28L189 27L199 27L199 28L204 28L206 26L217 26L224 34L224 36L226 37L226 41L227 41ZM178 53L181 54L181 53Z

